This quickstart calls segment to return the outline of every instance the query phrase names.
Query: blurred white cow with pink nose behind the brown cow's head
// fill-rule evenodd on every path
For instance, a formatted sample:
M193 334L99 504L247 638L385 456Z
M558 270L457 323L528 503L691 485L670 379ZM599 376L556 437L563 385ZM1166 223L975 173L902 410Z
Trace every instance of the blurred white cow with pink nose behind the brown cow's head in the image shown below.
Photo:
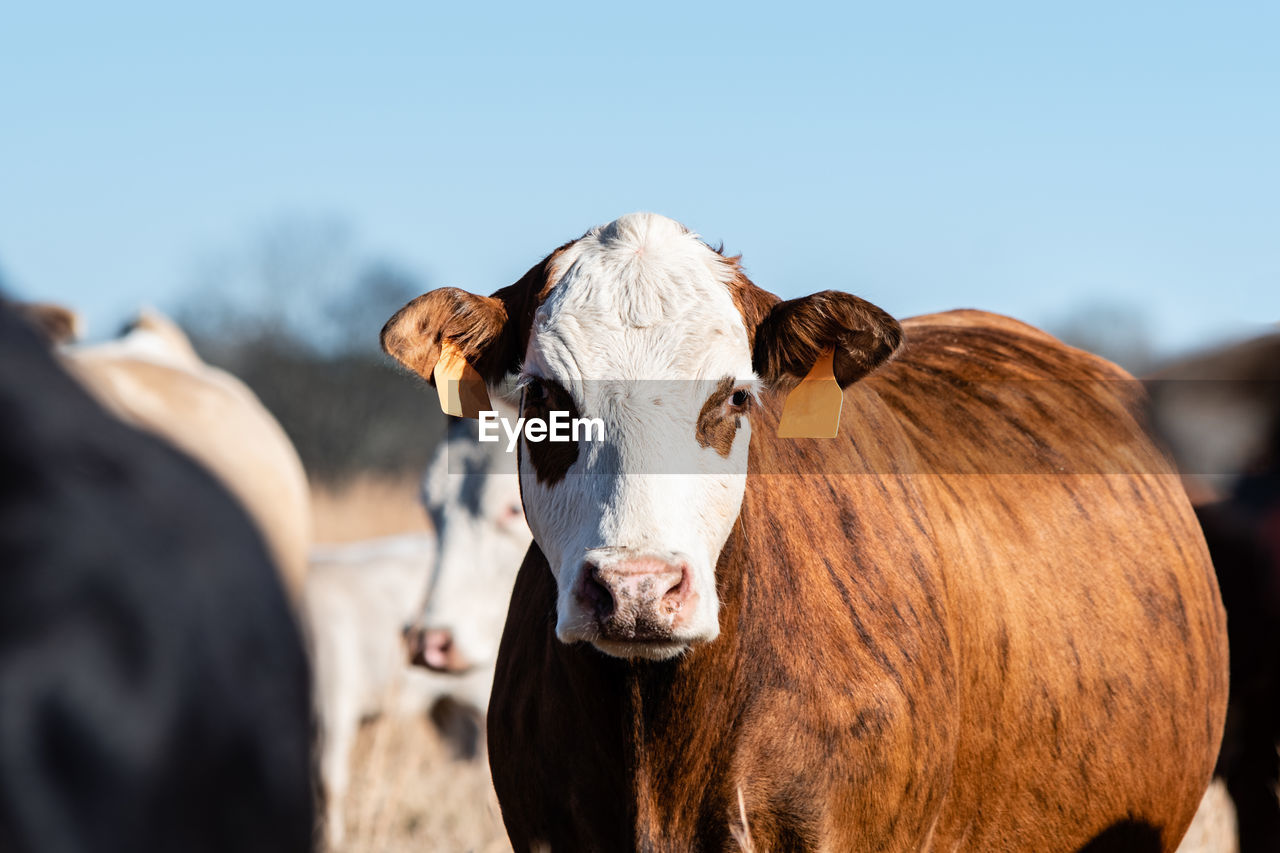
M312 548L306 621L330 848L346 835L362 720L421 715L445 698L476 713L488 708L511 587L531 537L515 456L480 444L475 429L475 421L451 424L424 478L436 534ZM429 658L436 671L408 665L402 629L411 658L422 666Z

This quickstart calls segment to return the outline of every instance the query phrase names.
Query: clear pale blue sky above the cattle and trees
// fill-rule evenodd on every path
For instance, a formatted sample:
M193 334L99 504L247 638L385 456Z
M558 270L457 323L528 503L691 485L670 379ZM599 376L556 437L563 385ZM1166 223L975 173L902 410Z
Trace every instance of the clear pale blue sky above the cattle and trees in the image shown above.
M104 333L335 216L489 292L631 210L783 296L1280 320L1280 4L22 4L0 272Z

